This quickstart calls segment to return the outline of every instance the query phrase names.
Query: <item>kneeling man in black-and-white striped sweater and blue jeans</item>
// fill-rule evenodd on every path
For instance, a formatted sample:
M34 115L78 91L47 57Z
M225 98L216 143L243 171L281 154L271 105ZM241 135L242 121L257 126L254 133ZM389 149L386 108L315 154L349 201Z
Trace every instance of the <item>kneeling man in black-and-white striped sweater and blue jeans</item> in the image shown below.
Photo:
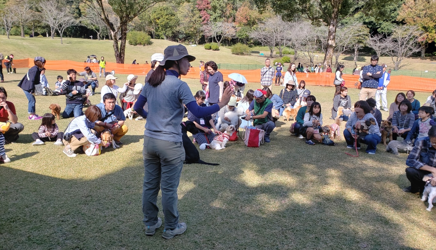
M74 69L67 70L68 80L62 84L62 91L65 91L67 105L62 118L79 117L83 115L83 96L86 95L85 79L76 80L77 71Z

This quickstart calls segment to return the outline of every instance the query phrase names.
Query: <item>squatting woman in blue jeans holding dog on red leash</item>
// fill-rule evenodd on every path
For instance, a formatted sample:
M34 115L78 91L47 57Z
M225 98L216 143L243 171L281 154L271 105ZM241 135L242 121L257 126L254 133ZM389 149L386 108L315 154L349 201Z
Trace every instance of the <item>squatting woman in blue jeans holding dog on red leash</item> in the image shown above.
M381 142L381 133L378 124L369 126L368 134L365 136L356 135L355 125L358 120L368 120L369 118L374 118L371 114L371 108L368 103L365 101L357 101L354 103L354 112L351 113L350 118L348 118L347 123L345 124L344 130L344 138L347 142L347 148L360 149L360 143L365 143L368 145L366 148L366 153L375 154L375 150L377 149L377 144ZM377 123L377 122L376 122ZM357 140L357 145L355 145L355 141Z

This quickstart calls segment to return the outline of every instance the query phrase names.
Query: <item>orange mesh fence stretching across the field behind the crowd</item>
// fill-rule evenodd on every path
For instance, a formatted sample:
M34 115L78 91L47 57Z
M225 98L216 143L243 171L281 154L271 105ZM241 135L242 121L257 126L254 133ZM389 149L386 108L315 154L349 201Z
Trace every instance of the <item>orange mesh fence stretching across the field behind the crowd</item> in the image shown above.
M31 58L14 60L14 67L17 68L29 68L33 65L33 59ZM48 60L45 64L45 68L47 70L66 71L68 69L75 69L78 72L82 72L86 66L89 66L94 72L99 72L100 70L98 63L81 63L70 60ZM109 62L106 63L106 72L115 70L115 72L118 74L146 75L150 71L150 69L150 64L121 64ZM224 80L230 80L227 76L231 73L240 73L250 83L260 82L260 69L219 71L223 74ZM296 76L298 81L304 80L307 85L334 86L334 73L296 73ZM342 77L345 80L345 86L347 88L354 88L354 83L356 83L359 79L359 76L350 74L344 74ZM182 78L200 79L200 69L198 67L193 67L189 70L188 74ZM436 89L436 79L408 76L391 76L391 81L388 88L389 90L415 90L433 92L433 90Z

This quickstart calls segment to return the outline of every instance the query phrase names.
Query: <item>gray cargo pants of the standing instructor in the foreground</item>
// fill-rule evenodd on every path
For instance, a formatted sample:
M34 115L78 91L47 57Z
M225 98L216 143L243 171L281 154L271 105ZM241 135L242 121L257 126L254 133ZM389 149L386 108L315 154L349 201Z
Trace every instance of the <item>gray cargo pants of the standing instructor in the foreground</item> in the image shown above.
M143 222L157 223L157 194L162 190L164 229L175 229L179 222L177 187L179 187L185 150L182 142L170 142L144 136L144 184L142 193ZM159 187L160 186L160 187Z

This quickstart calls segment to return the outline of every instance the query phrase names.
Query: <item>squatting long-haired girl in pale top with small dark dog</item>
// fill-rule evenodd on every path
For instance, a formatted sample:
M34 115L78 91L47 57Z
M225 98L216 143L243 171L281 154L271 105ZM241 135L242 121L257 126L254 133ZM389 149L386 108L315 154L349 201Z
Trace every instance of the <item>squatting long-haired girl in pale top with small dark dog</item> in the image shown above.
M318 102L312 103L309 112L304 114L303 127L300 128L300 133L306 137L306 143L315 145L312 139L317 141L322 140L321 126L323 125L323 115L321 114L321 104Z

